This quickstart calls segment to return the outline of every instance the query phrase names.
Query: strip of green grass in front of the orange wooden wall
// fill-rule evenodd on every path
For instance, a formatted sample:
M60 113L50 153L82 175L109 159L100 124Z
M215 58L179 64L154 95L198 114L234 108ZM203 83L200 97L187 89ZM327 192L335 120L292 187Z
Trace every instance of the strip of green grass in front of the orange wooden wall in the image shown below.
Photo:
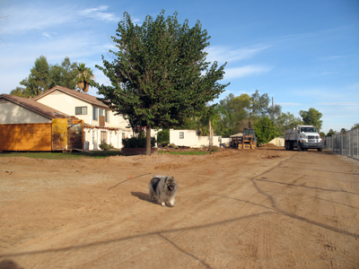
M102 159L121 155L120 151L95 152L0 152L0 157L28 157L47 160L74 160L79 158Z

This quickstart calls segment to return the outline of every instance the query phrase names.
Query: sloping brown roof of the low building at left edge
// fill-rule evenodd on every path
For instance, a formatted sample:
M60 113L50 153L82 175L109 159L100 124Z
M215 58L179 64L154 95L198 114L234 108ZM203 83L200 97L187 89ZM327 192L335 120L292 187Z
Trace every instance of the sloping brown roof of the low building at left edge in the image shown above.
M75 118L73 116L68 116L65 113L58 111L57 109L50 108L44 104L41 104L37 102L36 100L32 100L29 98L14 96L10 94L1 94L0 99L4 98L5 100L11 101L14 104L17 104L18 106L21 106L22 108L27 108L35 113L38 113L39 115L43 117L48 118Z

